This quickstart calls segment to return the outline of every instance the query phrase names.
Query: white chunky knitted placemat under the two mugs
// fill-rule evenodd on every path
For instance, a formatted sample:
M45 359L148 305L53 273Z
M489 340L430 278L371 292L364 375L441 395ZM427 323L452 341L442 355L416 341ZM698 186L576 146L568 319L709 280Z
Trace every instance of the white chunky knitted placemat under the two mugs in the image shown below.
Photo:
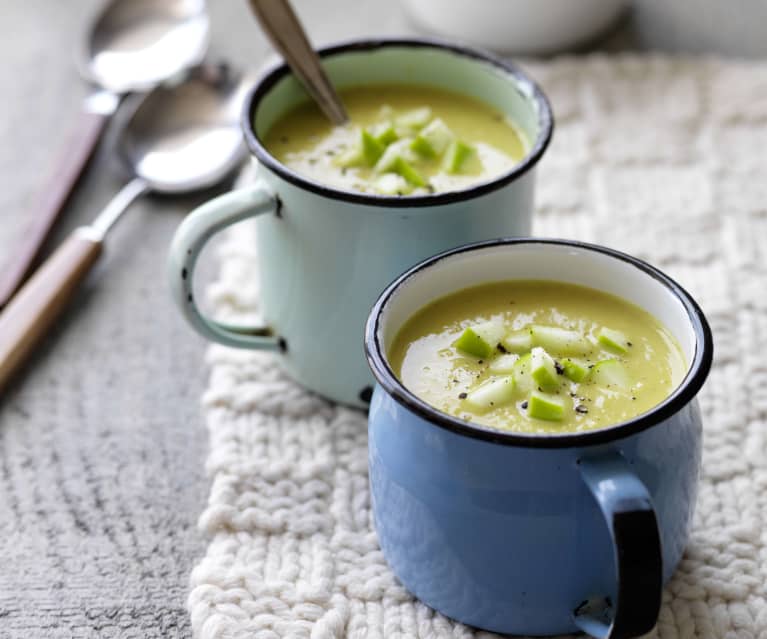
M767 638L767 64L588 57L529 65L557 119L538 235L645 258L703 306L715 364L700 395L703 473L659 637ZM231 233L217 311L252 319L248 233ZM403 265L404 266L404 265ZM373 532L362 412L269 355L212 347L212 479L192 573L201 639L489 637L397 583Z

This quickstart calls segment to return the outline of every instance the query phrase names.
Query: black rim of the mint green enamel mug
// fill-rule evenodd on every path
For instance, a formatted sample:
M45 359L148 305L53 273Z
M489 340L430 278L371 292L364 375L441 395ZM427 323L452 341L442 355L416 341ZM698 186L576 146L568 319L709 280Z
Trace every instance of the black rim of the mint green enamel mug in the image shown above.
M448 42L443 42L441 40L431 38L378 38L351 40L348 42L334 44L329 47L324 47L319 49L318 53L321 58L325 58L336 55L338 53L350 53L355 51L366 52L373 51L375 49L381 49L384 47L431 48L449 51L463 57L472 58L496 67L504 73L512 76L518 85L524 84L529 86L531 88L531 94L530 96L525 97L528 99L532 98L538 110L538 135L530 151L527 153L527 155L525 155L519 164L516 164L506 173L503 173L492 180L480 182L479 184L462 191L449 191L446 193L409 195L402 197L375 195L354 191L342 191L341 189L335 189L323 185L296 173L295 171L286 167L284 164L278 162L266 150L258 135L256 135L254 126L255 114L259 104L261 103L261 100L269 93L269 91L271 91L277 82L279 82L282 78L290 73L287 65L281 64L276 68L266 71L266 73L258 80L256 85L250 90L242 111L241 124L245 135L245 141L247 142L248 148L256 156L258 161L286 181L295 184L302 189L306 189L307 191L312 191L319 195L323 195L335 200L343 200L356 204L366 204L368 206L380 206L388 208L418 208L469 200L471 198L477 197L478 195L499 189L509 182L513 182L521 175L527 173L527 171L532 169L538 163L538 160L541 158L543 152L546 150L546 147L548 147L549 142L551 141L551 135L554 130L554 118L551 112L549 101L544 95L543 91L541 91L540 87L527 74L525 74L515 65L484 51L457 46Z

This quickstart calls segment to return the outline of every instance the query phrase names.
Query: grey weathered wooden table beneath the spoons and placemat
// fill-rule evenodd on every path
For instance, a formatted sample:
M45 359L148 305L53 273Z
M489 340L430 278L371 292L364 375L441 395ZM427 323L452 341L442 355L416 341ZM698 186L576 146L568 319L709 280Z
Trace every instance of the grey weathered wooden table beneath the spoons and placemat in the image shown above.
M86 88L74 51L98 0L0 3L0 258ZM211 2L211 57L269 55L244 1ZM393 2L297 2L316 43L412 30ZM642 25L645 26L642 26ZM627 23L600 46L632 47ZM640 42L641 44L641 42ZM52 245L121 184L102 148ZM145 199L18 381L0 396L0 638L186 637L207 493L205 345L168 298L166 248L210 194Z

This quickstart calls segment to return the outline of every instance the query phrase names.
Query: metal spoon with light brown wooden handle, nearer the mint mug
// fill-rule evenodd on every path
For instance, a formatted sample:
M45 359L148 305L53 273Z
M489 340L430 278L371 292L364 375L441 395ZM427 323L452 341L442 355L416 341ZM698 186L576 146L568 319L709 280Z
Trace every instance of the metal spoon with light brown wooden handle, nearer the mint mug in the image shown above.
M65 240L0 314L0 388L46 334L133 200L148 191L208 188L242 163L239 116L249 84L225 66L201 66L140 102L117 141L133 179L92 224Z

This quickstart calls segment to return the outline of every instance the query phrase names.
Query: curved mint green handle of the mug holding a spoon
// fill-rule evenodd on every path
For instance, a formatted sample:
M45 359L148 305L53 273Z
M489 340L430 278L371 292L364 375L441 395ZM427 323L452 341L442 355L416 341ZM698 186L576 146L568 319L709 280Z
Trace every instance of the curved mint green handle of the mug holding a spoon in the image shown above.
M286 350L285 340L266 326L236 326L203 315L192 292L197 257L213 235L249 217L276 213L278 208L275 195L262 182L256 182L197 207L176 230L168 256L173 299L186 321L203 337L235 348Z

